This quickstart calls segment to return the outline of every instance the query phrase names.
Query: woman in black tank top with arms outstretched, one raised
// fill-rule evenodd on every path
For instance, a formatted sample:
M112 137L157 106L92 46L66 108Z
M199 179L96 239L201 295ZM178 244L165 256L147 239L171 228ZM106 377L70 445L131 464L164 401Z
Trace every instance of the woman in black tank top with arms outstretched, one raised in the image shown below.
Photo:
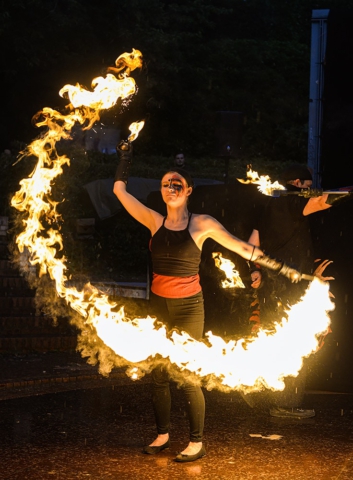
M199 282L202 245L207 238L237 253L246 260L254 260L264 267L276 270L292 282L301 279L300 273L284 262L264 255L259 248L231 235L209 215L188 211L188 199L193 191L190 175L181 169L168 171L161 181L161 193L167 215L148 208L126 190L132 162L132 146L122 141L117 147L120 162L115 175L114 193L125 209L151 232L150 250L153 265L151 307L153 314L169 329L177 328L199 340L204 328L204 301ZM157 424L157 438L146 445L143 452L156 454L170 446L170 377L156 367L152 372L152 402ZM192 462L206 455L202 444L205 400L200 386L183 386L190 422L190 442L175 461Z

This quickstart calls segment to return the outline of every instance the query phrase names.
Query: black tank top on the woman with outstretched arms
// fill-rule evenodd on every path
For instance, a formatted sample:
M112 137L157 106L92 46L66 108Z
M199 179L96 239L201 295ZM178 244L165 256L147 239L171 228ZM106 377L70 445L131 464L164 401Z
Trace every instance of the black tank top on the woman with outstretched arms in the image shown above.
M185 230L168 230L162 226L151 238L153 272L172 277L191 277L198 274L201 250L189 232L189 221Z

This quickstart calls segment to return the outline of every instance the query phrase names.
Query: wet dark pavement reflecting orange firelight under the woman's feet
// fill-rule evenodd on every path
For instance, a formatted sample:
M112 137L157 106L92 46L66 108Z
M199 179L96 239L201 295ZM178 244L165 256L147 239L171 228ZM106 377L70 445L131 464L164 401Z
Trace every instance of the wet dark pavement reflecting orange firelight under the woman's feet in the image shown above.
M74 361L47 378L54 372L76 380L37 385L37 391L23 385L22 393L17 386L17 395L15 387L2 388L1 480L353 478L352 394L307 392L303 406L316 416L297 420L271 417L265 404L252 408L237 393L205 391L207 456L178 464L173 459L188 443L180 390L173 387L171 448L149 456L141 453L155 436L148 376L94 378L94 367ZM280 438L266 438L271 435Z

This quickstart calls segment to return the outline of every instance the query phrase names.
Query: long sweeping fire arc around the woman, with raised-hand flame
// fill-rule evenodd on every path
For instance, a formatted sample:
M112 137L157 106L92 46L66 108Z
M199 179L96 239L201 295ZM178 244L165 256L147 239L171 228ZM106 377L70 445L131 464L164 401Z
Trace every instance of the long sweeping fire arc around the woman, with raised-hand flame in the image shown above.
M67 93L70 100L66 115L50 108L40 112L37 125L45 126L46 132L23 152L23 157L35 156L37 164L32 174L21 180L21 188L11 200L11 205L24 216L23 231L16 238L18 249L29 254L29 262L38 269L38 275L48 275L57 295L83 319L82 354L87 356L90 350L85 335L93 338L95 345L101 344L98 340L104 342L105 346L96 347L96 351L101 349L101 354L97 353L101 373L109 374L114 363L104 363L104 348L108 347L121 360L119 365L128 367L126 373L132 379L140 378L158 362L167 362L178 380L184 377L187 381L202 382L207 388L244 392L264 387L282 389L284 377L298 374L302 359L317 350L320 334L330 324L328 312L334 307L327 283L316 279L311 282L305 296L288 313L288 319L276 326L275 334L259 330L251 339L230 341L212 332L206 334L205 341L196 341L185 332L167 332L163 324L150 316L131 320L125 316L124 307L117 311L117 304L90 283L81 291L68 286L66 259L58 253L63 239L54 228L59 221L57 203L50 194L51 184L70 160L59 155L55 145L70 138L76 122L88 122L85 128L89 128L102 108L131 95L133 82L128 81L128 75L140 65L141 54L137 52L120 56L117 68L111 68L118 78L112 80L107 75L108 79L96 79L94 92L65 86L61 92ZM136 130L131 126L133 138L142 127L139 124Z

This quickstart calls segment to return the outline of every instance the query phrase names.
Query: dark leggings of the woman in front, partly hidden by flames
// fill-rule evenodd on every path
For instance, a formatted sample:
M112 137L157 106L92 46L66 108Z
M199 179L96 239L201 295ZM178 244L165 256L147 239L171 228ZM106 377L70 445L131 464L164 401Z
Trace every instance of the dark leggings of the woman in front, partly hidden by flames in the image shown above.
M199 340L204 328L202 292L188 298L164 298L151 294L152 312L167 325L187 332ZM167 371L157 367L152 372L152 402L158 434L169 433L170 427L170 378ZM186 384L182 387L186 398L186 410L190 422L190 441L201 442L205 419L205 398L201 387Z

